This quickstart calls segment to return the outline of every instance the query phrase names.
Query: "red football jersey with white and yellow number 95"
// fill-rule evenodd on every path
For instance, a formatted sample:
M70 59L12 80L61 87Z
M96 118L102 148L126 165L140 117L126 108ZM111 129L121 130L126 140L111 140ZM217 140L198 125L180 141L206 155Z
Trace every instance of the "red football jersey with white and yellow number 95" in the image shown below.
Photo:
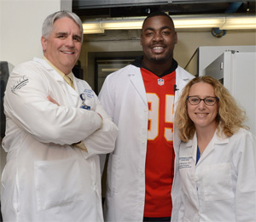
M158 77L141 68L148 99L144 217L170 217L174 175L173 112L176 71Z

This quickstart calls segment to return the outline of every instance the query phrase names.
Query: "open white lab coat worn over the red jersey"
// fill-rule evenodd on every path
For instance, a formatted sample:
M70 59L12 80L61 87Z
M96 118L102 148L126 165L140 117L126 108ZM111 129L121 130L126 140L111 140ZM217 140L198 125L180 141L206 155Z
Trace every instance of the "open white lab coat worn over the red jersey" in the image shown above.
M179 90L175 100L193 77L179 66L176 71ZM140 68L127 65L109 75L99 98L119 128L115 149L108 160L104 219L141 222L145 199L148 101Z

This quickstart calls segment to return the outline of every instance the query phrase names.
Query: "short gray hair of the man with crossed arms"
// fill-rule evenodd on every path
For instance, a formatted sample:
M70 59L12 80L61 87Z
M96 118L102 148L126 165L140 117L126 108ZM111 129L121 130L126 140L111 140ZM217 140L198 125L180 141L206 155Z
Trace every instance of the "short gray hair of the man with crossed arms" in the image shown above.
M59 20L64 17L67 17L67 18L73 20L76 24L78 24L80 31L81 31L81 37L82 37L82 43L83 43L82 21L79 19L79 16L77 14L74 14L74 13L68 12L68 11L59 11L59 12L55 12L53 14L49 14L47 16L47 18L44 20L43 27L42 27L42 35L46 39L48 39L49 34L53 30L55 20Z

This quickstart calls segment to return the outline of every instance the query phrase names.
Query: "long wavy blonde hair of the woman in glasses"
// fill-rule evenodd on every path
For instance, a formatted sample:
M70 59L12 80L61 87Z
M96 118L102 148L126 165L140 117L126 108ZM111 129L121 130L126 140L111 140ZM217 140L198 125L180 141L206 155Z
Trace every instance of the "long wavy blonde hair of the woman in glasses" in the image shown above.
M219 129L225 136L230 137L235 134L239 128L248 128L243 125L246 119L246 112L241 109L240 105L236 102L229 90L224 88L224 85L213 77L195 77L183 88L175 112L175 127L179 131L179 137L183 142L188 142L195 134L195 124L191 121L188 114L188 100L189 90L195 83L208 83L212 85L215 96L218 97L218 114L216 122Z

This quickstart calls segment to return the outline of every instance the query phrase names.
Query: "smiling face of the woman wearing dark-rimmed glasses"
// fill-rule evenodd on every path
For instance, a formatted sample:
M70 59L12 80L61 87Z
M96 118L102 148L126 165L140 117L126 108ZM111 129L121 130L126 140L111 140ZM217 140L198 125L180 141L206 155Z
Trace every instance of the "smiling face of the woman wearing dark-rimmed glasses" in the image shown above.
M204 99L208 96L215 97L215 94L211 84L201 82L191 86L189 96L198 96ZM191 105L189 101L187 103L189 118L194 122L196 130L215 130L217 128L218 102L214 105L206 105L202 100L198 105Z

